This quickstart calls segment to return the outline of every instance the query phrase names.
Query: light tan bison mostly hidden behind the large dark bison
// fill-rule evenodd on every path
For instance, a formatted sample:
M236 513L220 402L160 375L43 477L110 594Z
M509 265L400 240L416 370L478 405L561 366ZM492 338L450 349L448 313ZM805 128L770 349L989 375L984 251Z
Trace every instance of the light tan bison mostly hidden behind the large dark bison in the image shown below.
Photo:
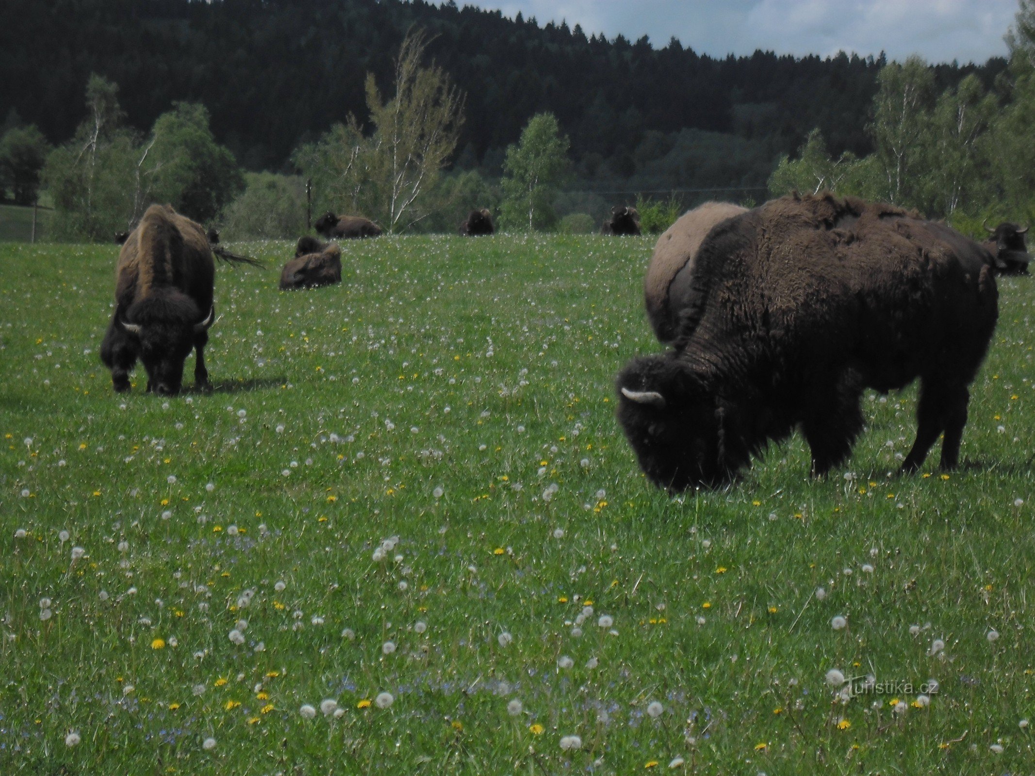
M706 202L682 215L658 238L644 279L644 302L654 334L662 344L674 341L678 334L679 315L691 298L690 279L701 243L716 223L746 212L747 208L729 202Z

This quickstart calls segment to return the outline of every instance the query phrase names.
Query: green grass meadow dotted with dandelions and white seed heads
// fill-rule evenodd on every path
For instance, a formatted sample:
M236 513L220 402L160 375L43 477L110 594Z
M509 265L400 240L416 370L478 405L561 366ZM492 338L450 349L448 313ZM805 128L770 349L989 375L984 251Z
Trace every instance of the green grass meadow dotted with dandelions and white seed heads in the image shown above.
M1031 773L1035 280L960 471L867 394L829 479L671 499L614 419L650 239L234 247L164 399L97 358L115 246L0 246L0 773Z

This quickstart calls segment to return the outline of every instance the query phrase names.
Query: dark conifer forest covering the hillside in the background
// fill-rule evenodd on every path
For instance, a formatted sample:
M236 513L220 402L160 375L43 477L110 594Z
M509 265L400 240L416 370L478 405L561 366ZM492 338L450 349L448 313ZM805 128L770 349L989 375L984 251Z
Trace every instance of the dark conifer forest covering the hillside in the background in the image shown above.
M713 58L675 38L608 39L423 0L12 0L0 29L0 135L38 128L37 143L67 143L90 121L84 94L96 74L117 88L126 137L146 138L170 112L204 118L235 167L218 176L226 196L216 210L252 182L297 199L299 149L350 117L359 132L374 131L367 73L390 93L395 55L414 29L426 34L426 61L463 98L443 183L484 200L415 229L446 229L464 207L498 208L507 148L542 113L569 141L552 223L596 219L638 199L760 201L779 160L814 130L834 159L878 150L883 55ZM982 94L1011 99L1006 59L924 69L930 94L970 79ZM5 196L25 202L13 177ZM203 210L199 217L215 216Z

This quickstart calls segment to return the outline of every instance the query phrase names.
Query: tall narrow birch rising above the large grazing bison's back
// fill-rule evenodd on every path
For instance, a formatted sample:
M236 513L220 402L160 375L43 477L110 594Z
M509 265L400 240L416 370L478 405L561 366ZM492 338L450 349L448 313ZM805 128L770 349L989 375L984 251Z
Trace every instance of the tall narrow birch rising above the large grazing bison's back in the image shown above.
M874 98L869 130L884 171L884 193L896 205L916 205L922 187L918 173L935 107L935 73L920 57L913 56L904 64L889 62L878 73L877 82L880 88Z

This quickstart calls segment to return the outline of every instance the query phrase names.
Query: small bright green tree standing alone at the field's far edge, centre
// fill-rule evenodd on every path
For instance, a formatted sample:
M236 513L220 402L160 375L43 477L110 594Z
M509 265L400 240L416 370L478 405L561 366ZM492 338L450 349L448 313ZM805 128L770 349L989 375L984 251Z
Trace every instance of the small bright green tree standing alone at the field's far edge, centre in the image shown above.
M567 153L568 139L561 135L552 113L529 120L521 141L507 148L503 162L500 221L504 228L531 232L554 225L554 193L570 167Z

